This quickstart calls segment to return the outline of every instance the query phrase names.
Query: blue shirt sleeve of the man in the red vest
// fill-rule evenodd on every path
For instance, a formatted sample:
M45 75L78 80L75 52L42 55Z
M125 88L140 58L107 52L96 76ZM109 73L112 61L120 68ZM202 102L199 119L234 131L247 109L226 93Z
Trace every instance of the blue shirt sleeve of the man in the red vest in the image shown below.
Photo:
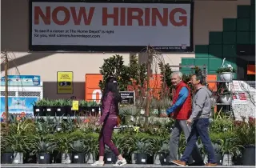
M182 87L182 90L178 93L178 99L174 103L173 106L170 106L169 109L166 110L166 114L169 115L173 113L179 106L182 106L182 104L186 101L186 98L189 96L189 90L187 90L186 87Z

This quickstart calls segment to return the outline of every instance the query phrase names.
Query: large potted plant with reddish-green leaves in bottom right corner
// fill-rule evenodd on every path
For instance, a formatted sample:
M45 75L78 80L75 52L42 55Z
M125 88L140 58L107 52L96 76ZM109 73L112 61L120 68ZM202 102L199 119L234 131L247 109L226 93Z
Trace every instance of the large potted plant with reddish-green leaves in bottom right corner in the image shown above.
M255 165L255 118L243 118L242 122L235 125L235 134L238 142L244 146L242 151L242 164L245 166Z

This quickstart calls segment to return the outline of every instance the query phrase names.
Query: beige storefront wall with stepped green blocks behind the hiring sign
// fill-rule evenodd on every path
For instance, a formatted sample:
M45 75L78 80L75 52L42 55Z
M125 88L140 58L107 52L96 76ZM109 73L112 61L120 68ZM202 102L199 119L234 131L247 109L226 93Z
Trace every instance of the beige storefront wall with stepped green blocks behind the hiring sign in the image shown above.
M163 52L166 63L178 66L182 65L203 65L209 66L208 72L214 74L214 70L222 63L222 58L237 66L236 54L232 56L229 52L236 44L254 44L254 5L250 0L238 1L194 1L194 12L191 15L193 49L191 52ZM9 50L13 61L10 62L9 74L32 74L40 75L44 82L45 98L77 98L85 97L85 75L99 74L99 67L102 66L104 58L110 58L113 54L123 56L126 64L129 63L130 52L63 52L63 51L31 51L30 52L30 6L29 1L3 0L2 10L2 42L1 49ZM245 7L238 7L245 6ZM249 7L248 7L249 6ZM238 9L250 9L249 16L238 16ZM255 9L255 8L254 8ZM241 13L242 11L240 11ZM240 18L239 18L240 17ZM242 17L242 18L241 18ZM249 18L249 20L248 20ZM232 20L233 19L233 20ZM228 21L225 21L228 20ZM236 27L232 30L232 21ZM230 24L228 24L230 22ZM245 26L237 29L239 24ZM238 26L237 26L238 25ZM228 26L228 27L226 27ZM224 33L223 33L224 32ZM225 33L227 32L227 33ZM241 33L242 32L242 33ZM236 39L232 40L232 34ZM224 38L224 36L227 38ZM238 37L244 41L238 41ZM121 38L122 39L122 38ZM225 41L227 39L227 41ZM123 38L125 41L126 38ZM174 41L174 39L170 39ZM249 40L249 42L247 42ZM110 39L111 41L111 39ZM40 48L38 48L40 50ZM113 49L114 50L114 49ZM132 51L132 50L131 50ZM225 54L223 54L226 53ZM221 54L220 54L221 53ZM188 59L190 58L190 59ZM191 59L194 58L194 59ZM230 59L229 59L230 58ZM143 58L142 58L143 59ZM74 81L73 94L57 94L57 72L72 71ZM183 69L186 73L186 70ZM4 68L1 65L1 75Z

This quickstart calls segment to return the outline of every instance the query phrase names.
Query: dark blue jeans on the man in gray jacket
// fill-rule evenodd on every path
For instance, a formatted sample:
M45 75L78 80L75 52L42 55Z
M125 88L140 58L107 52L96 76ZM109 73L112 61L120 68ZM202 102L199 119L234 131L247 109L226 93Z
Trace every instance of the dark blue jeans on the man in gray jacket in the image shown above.
M198 136L200 136L203 146L205 146L206 152L208 154L209 163L216 163L214 147L210 141L209 136L209 118L202 118L198 120L194 120L192 124L192 130L190 133L190 137L187 139L186 149L184 154L182 155L181 161L188 162L190 158L190 154L198 141Z

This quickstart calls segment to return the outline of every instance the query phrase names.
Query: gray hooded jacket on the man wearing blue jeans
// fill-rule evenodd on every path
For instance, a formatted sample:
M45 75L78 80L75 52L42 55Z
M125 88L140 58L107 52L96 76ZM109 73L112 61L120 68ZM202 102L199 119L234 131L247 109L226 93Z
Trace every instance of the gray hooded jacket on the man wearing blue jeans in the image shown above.
M206 86L202 86L196 91L193 97L192 114L190 120L193 121L198 118L210 118L212 93Z

